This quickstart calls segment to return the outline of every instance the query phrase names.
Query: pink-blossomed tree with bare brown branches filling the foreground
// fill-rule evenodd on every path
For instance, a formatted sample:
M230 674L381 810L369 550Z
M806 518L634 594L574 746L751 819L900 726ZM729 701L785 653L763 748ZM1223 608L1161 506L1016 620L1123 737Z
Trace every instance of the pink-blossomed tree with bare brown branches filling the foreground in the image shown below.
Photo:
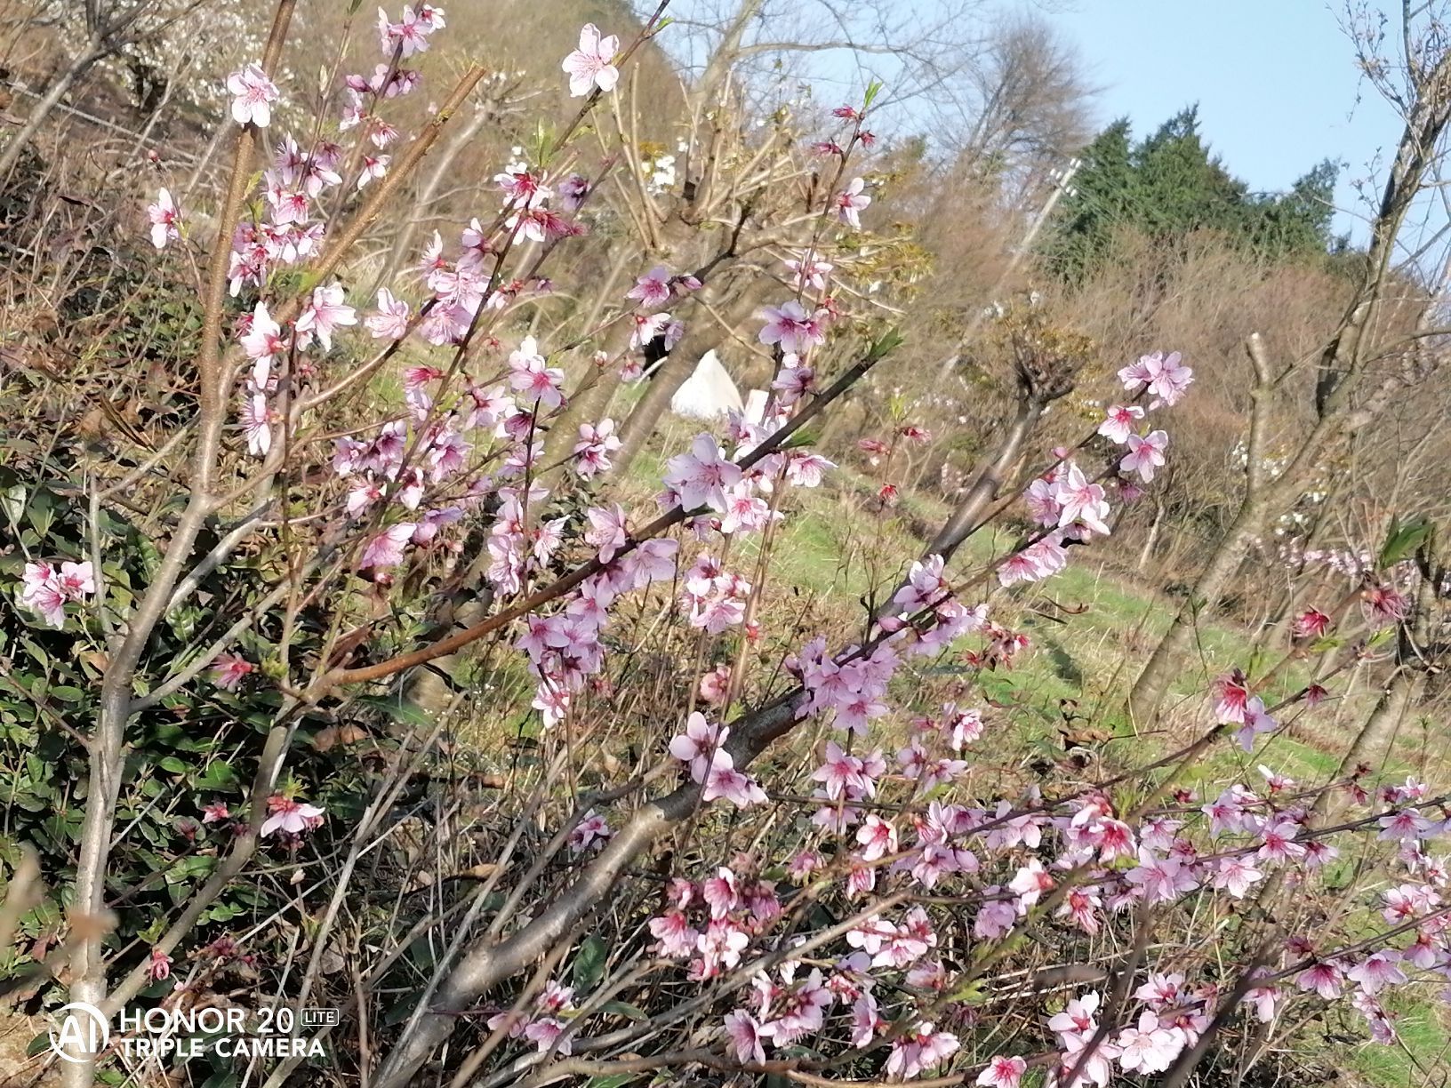
M168 348L176 405L106 456L32 428L6 466L3 648L19 664L0 705L33 741L39 805L20 818L41 863L16 866L0 921L36 879L70 908L23 978L64 975L65 997L107 1015L219 1001L263 970L276 1007L341 992L355 1042L322 1031L331 1066L379 1088L686 1069L1183 1084L1206 1060L1251 1068L1296 1007L1347 1007L1394 1039L1389 995L1451 972L1431 846L1445 795L1360 766L1304 785L1235 766L1204 796L1190 775L1236 744L1264 753L1387 637L1426 651L1445 595L1429 531L1383 556L1415 553L1415 598L1386 576L1360 614L1307 609L1284 660L1223 676L1183 743L1026 779L985 686L1027 646L1006 605L1106 547L1114 509L1165 469L1194 373L1154 351L1116 368L1111 406L1056 435L1016 493L987 509L994 479L949 545L898 554L850 625L768 612L776 527L836 469L813 425L900 342L824 260L869 200L849 167L872 91L814 133L834 170L805 190L805 241L749 328L770 350L762 418L667 451L640 503L614 479L612 421L579 418L562 363L580 345L525 316L559 254L593 244L602 178L576 170L576 141L663 10L633 38L585 26L560 58L573 119L369 299L341 277L353 247L483 68L403 141L390 109L448 23L428 4L383 12L371 74L340 52L318 116L281 131L300 91L276 78L280 0L261 55L226 80L222 244L199 252L167 190L138 234L178 277L205 258L199 319ZM744 186L724 165L717 184ZM586 389L638 371L681 335L662 306L704 290L689 267L631 280L583 338ZM1035 422L1075 380L1069 354L1022 341ZM33 403L80 416L97 389L36 386ZM882 498L898 438L918 437L863 437ZM949 570L1010 516L1016 532ZM473 609L441 615L459 586ZM667 660L653 682L643 646ZM1328 664L1302 682L1312 653ZM408 689L448 660L466 666L450 698L419 714ZM466 701L515 722L509 759L464 751ZM474 754L495 757L489 740ZM1342 881L1342 853L1393 886ZM1283 910L1245 910L1290 888ZM68 1085L113 1060L67 1058ZM264 1082L309 1082L302 1060Z

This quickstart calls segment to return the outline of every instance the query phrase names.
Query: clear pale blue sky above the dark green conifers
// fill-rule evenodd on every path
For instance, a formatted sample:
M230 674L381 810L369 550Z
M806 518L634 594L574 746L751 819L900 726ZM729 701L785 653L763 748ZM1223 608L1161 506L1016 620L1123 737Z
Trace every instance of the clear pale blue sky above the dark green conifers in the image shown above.
M1384 177L1400 120L1358 80L1344 3L1059 0L1045 15L1103 88L1100 122L1127 115L1142 136L1199 102L1210 147L1255 190L1344 160L1336 231L1365 236L1351 180Z

